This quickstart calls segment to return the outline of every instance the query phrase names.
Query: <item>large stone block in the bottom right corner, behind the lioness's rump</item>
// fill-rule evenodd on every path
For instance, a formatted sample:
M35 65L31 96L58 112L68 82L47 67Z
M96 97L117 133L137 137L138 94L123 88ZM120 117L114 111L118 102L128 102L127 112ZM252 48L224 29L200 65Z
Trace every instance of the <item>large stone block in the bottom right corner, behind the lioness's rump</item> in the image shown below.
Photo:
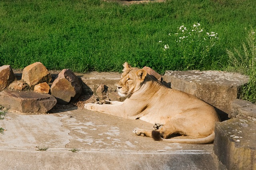
M214 153L228 170L256 169L256 122L232 118L215 126Z

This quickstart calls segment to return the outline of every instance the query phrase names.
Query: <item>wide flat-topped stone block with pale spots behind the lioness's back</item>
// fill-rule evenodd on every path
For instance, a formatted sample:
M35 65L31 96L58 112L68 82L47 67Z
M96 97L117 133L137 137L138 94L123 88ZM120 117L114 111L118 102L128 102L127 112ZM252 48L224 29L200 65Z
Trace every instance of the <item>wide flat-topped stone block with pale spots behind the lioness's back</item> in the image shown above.
M167 86L192 94L208 104L232 113L231 102L240 96L240 88L248 76L222 71L166 71L163 82Z

